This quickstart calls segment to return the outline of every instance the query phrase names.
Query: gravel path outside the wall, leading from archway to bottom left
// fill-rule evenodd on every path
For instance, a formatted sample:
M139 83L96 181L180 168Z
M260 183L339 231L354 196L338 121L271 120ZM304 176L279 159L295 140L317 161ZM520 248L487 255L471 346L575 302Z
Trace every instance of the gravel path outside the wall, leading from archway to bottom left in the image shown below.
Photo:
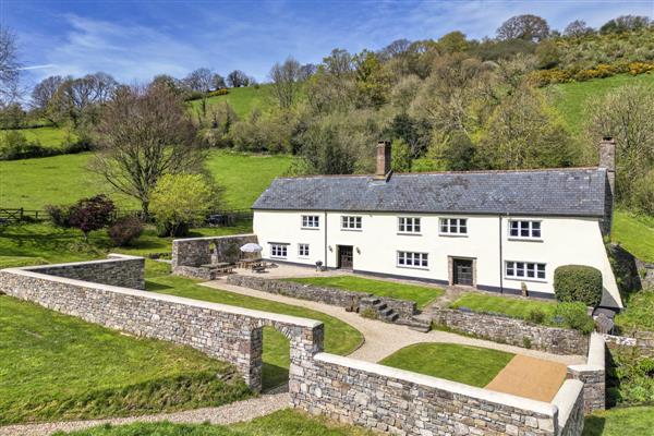
M184 412L161 413L156 415L112 417L108 420L69 421L45 424L10 425L0 427L0 436L46 436L57 431L73 432L110 423L113 425L133 422L169 421L184 424L233 424L264 416L290 407L291 398L288 392L262 395L245 401L238 401L219 408L204 408Z

